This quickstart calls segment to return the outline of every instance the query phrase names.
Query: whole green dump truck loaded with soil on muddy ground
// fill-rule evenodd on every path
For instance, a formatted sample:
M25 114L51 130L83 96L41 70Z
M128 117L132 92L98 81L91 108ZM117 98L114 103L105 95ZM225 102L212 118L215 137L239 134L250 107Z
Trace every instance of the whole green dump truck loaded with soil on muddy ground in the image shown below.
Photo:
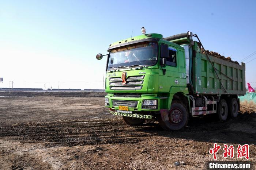
M245 94L245 63L203 54L201 48L189 31L167 38L145 33L110 44L105 55L109 112L133 126L157 120L165 130L184 128L192 116L236 117L238 96Z

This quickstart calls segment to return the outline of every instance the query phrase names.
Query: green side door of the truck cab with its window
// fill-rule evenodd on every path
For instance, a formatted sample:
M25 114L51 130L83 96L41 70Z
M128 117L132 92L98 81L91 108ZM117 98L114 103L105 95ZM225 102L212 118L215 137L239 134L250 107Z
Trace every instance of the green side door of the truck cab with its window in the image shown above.
M159 75L159 92L169 92L171 86L179 86L179 68L177 50L175 47L169 46L169 56L166 58L165 75Z

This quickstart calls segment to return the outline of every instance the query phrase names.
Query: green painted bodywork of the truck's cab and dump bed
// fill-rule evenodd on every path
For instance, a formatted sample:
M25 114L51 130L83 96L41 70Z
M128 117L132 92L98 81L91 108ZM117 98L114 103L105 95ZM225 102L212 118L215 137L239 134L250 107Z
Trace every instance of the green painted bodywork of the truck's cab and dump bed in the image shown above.
M161 34L146 34L140 35L121 41L117 41L109 45L110 51L112 48L119 46L131 45L139 40L143 39L155 39L158 43L158 59L157 63L153 66L140 67L140 68L125 68L122 67L119 70L110 69L106 73L106 93L105 97L109 99L110 111L114 115L136 117L142 114L142 111L159 113L161 109L170 109L174 95L180 94L189 101L189 95L199 94L211 94L221 96L222 94L245 94L245 64L238 65L212 56L210 60L217 69L217 78L214 68L206 55L200 53L200 45L194 41L192 46L192 70L191 70L191 84L193 86L193 92L189 92L187 84L187 72L185 61L185 49L180 46L181 44L189 44L188 38L180 38L171 41L167 41L162 38ZM160 65L160 51L161 45L166 44L170 48L176 50L176 66L164 66ZM165 69L165 73L163 72ZM129 85L122 86L120 80L122 79L123 72L127 73L127 81L129 78L135 78L137 83L134 85L134 89L131 89ZM116 79L117 78L117 79ZM118 81L117 81L118 80ZM226 92L221 86L221 82L226 89ZM118 86L117 86L118 84ZM138 89L136 89L138 88ZM119 94L119 95L118 95ZM129 94L138 94L138 96L125 96ZM123 96L122 96L123 95ZM134 107L129 107L129 111L133 114L126 114L114 112L118 110L118 104L114 105L113 101L134 101L137 103ZM157 109L145 109L142 107L144 100L157 100ZM191 109L191 103L188 102L188 109ZM152 114L151 114L152 115ZM151 119L148 114L144 114L143 119Z

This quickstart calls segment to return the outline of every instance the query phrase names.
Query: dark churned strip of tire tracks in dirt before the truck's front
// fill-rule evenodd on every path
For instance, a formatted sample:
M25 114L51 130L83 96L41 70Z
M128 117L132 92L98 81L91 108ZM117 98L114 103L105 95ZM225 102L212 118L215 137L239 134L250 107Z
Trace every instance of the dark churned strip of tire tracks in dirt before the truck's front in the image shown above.
M122 127L122 128L120 128ZM16 124L0 128L0 136L45 146L76 146L86 144L137 143L144 136L121 120L77 122L50 122L38 124Z

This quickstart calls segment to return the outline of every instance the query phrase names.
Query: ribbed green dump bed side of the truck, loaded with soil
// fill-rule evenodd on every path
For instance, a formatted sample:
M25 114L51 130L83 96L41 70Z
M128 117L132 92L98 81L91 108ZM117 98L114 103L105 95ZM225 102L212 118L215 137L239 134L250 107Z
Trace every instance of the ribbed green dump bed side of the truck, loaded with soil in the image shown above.
M208 55L216 69L218 78L206 54L202 54L199 49L200 45L195 43L191 74L194 93L244 95L245 63L239 65Z

